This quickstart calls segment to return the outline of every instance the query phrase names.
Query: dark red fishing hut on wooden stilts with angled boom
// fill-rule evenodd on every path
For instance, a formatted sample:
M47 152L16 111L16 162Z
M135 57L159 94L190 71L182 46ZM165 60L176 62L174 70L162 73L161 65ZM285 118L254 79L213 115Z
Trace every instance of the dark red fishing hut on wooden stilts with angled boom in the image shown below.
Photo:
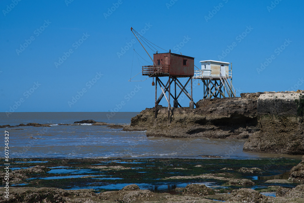
M131 27L132 33L135 35L136 39L140 42L140 39L145 39L139 33L137 33ZM134 33L134 32L136 33ZM146 41L148 42L148 41ZM143 44L140 42L144 50L147 52ZM146 43L145 43L146 44ZM181 104L178 102L178 98L182 93L189 98L190 109L194 109L192 97L192 77L194 76L194 58L189 56L184 56L181 54L171 53L171 50L167 53L158 53L156 51L153 54L153 59L150 54L147 52L150 59L153 61L153 65L142 66L142 75L148 76L148 78L153 78L152 86L155 86L155 119L157 119L157 106L161 100L165 97L168 102L168 124L171 123L171 115L173 114L173 109L171 108L170 98L173 99L173 108L181 107ZM155 78L155 83L154 83ZM184 78L186 81L183 84L179 79ZM130 80L129 80L130 81ZM190 84L189 84L190 82ZM174 84L174 92L171 89L171 85ZM191 86L190 93L187 91L187 87ZM159 86L161 93L157 95L157 86ZM180 92L177 92L177 87L180 89Z

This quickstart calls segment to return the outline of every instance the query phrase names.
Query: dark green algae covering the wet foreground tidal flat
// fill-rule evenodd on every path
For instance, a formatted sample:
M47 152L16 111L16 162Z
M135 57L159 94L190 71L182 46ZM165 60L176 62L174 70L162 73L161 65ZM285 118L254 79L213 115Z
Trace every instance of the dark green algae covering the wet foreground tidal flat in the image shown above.
M29 163L29 161L40 161L44 163ZM47 161L47 162L46 162ZM22 162L22 163L20 163ZM111 191L106 188L112 184L143 184L155 187L158 185L186 185L190 183L212 182L219 187L216 189L227 191L234 186L223 189L221 185L226 182L217 179L169 179L173 176L198 176L210 174L226 178L249 179L253 176L271 176L278 174L278 171L290 170L296 166L300 160L294 159L10 159L10 167L26 168L33 166L46 167L66 167L73 173L42 173L26 174L27 178L20 183L26 185L17 185L16 187L57 187L61 189L71 188L94 188L97 191ZM201 167L195 167L201 165ZM99 170L93 166L123 166L132 169L126 170ZM223 171L223 168L231 168L231 171ZM241 167L257 167L262 173L240 173L237 172ZM2 172L3 169L1 169ZM77 173L76 173L76 172ZM142 173L140 173L142 172ZM65 176L83 175L85 177L59 178ZM42 179L47 177L58 177L58 179ZM112 179L96 179L109 177ZM33 179L31 179L33 178ZM115 179L120 178L120 179ZM268 187L265 180L252 180L255 185ZM272 184L280 185L280 184ZM101 188L104 187L104 188ZM167 189L159 190L167 192Z

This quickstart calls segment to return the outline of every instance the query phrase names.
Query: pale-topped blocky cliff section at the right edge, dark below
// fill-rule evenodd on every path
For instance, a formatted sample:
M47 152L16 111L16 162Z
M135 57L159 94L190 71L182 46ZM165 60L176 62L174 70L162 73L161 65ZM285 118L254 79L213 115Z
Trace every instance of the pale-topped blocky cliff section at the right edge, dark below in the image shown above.
M267 93L257 100L260 132L244 144L244 151L304 154L304 124L296 100L301 93Z

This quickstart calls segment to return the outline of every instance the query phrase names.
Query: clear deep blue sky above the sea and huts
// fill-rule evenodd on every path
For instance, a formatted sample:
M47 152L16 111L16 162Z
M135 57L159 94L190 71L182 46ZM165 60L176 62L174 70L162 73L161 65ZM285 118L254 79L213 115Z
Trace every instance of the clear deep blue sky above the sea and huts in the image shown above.
M152 79L128 82L151 64L138 41L132 43L131 26L165 50L195 57L198 67L201 60L232 62L238 96L304 89L303 5L300 0L2 0L0 112L153 107ZM202 84L195 86L194 101L202 94ZM180 102L189 105L187 99Z

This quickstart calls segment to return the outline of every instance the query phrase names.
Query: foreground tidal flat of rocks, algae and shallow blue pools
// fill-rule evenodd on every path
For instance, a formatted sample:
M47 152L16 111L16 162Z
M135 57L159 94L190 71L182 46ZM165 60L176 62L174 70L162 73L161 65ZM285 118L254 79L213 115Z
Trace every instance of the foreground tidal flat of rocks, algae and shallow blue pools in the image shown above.
M0 203L304 202L303 160L10 159L10 163L9 199L1 187ZM286 177L278 170L290 173ZM4 176L4 169L0 173Z

